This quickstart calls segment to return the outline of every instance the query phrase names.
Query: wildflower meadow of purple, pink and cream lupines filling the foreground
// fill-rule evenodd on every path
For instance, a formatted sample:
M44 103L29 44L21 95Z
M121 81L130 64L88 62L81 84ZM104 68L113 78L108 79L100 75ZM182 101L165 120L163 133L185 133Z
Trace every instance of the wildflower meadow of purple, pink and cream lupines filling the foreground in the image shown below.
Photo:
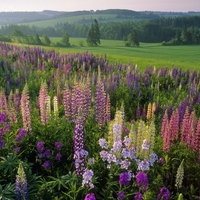
M0 43L0 199L199 200L200 73Z

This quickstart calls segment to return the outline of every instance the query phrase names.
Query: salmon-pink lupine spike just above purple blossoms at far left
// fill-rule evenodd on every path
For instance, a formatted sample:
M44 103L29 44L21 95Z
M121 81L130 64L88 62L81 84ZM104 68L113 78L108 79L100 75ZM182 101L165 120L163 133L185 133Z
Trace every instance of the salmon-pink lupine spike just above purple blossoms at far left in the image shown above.
M29 108L29 92L28 85L26 84L21 97L21 111L22 111L22 120L23 127L26 131L31 131L31 113Z

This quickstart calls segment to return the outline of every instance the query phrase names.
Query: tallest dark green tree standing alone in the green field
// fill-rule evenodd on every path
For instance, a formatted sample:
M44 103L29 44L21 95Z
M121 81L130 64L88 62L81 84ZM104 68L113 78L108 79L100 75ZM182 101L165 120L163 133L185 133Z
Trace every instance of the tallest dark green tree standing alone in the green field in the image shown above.
M100 41L100 30L98 21L95 19L94 22L91 24L88 34L87 34L87 44L97 46L101 43Z

